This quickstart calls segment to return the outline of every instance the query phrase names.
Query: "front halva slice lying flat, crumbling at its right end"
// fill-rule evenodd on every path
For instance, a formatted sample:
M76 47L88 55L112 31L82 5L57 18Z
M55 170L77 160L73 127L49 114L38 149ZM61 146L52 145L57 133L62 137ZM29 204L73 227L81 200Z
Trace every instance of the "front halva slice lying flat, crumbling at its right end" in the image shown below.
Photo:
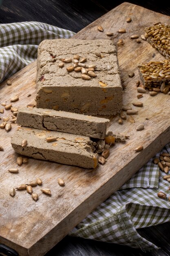
M56 141L47 142L47 137L55 137ZM25 147L21 146L23 139L27 140ZM11 145L15 152L37 159L84 168L95 168L98 164L93 141L86 136L19 127L11 138Z

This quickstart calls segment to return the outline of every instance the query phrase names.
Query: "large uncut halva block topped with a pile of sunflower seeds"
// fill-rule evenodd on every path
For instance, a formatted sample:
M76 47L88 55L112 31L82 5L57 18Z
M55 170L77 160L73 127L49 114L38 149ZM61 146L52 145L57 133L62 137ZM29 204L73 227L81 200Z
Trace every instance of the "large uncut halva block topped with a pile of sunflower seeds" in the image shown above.
M95 53L102 54L102 57ZM81 72L68 72L74 63L62 59L74 55L87 58L83 64L96 65L96 77L82 79ZM122 107L122 86L117 47L111 40L44 40L38 47L37 108L85 115L115 115Z

